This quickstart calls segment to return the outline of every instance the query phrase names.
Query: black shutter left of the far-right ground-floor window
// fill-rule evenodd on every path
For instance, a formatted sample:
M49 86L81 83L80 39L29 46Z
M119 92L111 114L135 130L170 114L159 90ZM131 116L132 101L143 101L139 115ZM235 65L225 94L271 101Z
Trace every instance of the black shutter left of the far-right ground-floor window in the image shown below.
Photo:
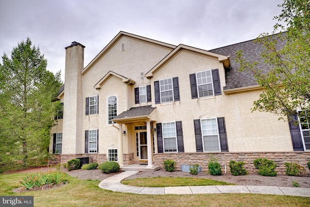
M302 144L302 138L300 133L300 128L298 124L298 118L296 115L291 116L291 121L289 122L291 138L293 143L294 151L304 151L304 146Z

